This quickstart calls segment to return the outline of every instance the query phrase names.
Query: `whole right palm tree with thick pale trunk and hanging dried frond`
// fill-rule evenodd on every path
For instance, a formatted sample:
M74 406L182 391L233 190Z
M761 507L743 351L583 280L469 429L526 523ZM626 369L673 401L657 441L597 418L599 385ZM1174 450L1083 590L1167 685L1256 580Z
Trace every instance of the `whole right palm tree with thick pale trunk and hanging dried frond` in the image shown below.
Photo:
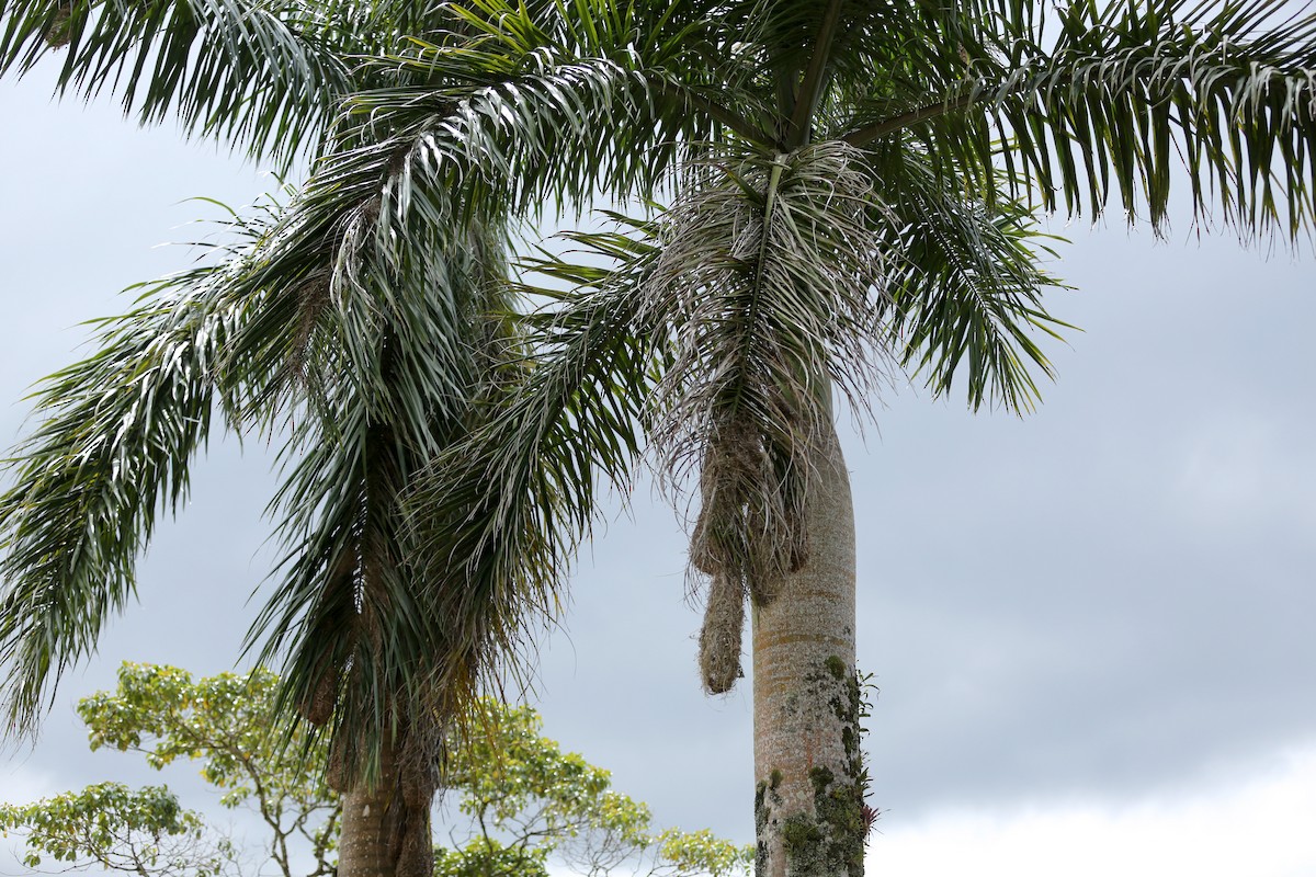
M59 18L41 8L25 45ZM312 30L341 38L355 24L338 12ZM403 268L461 251L471 229L600 197L670 206L576 238L609 267L536 266L579 288L541 291L555 304L540 364L408 500L424 586L396 630L408 648L441 644L425 678L487 667L551 605L596 481L625 479L645 434L670 484L697 475L711 692L738 676L751 615L759 868L858 873L854 535L833 398L865 410L909 368L975 408L1030 408L1029 366L1049 372L1033 333L1055 329L1033 209L1095 217L1115 196L1159 225L1178 160L1195 217L1296 237L1316 206L1316 16L1267 0L471 0L404 29L417 38L353 68L267 235L262 288L300 288L296 266L350 276L325 255L345 229L375 231L387 295L408 300L426 288ZM283 613L276 632L309 617ZM303 701L333 665L312 657L290 676Z

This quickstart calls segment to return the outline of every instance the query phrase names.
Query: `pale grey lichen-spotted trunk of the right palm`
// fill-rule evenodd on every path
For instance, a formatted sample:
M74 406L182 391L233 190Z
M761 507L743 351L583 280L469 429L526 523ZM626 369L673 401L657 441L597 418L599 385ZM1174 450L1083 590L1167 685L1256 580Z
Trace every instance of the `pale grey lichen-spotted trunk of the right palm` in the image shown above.
M758 877L863 873L854 506L834 431L815 463L809 560L753 609Z

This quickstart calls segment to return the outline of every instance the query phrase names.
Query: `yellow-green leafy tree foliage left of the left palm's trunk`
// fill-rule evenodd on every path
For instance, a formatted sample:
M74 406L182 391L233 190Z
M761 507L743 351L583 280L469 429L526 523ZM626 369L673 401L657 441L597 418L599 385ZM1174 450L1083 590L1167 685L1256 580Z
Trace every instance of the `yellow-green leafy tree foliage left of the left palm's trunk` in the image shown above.
M82 699L78 715L92 749L138 752L157 770L200 761L221 806L246 807L265 823L266 856L284 877L299 873L299 859L313 863L300 872L307 877L333 874L342 806L325 784L325 746L305 731L290 739L271 730L276 692L278 678L259 671L193 681L174 667L125 663L116 690ZM0 813L7 830L26 827L29 849L59 861L82 856L132 870L122 863L158 838L187 841L158 873L209 874L217 872L208 863L236 861L232 845L162 786L103 784Z

